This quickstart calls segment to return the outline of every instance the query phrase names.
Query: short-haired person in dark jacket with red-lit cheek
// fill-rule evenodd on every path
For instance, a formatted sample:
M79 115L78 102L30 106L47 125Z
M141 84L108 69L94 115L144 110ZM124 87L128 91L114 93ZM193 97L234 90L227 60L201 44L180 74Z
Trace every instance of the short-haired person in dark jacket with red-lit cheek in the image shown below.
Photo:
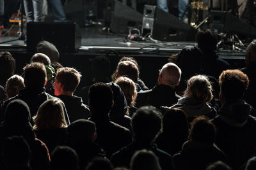
M62 67L58 69L54 82L54 94L65 104L70 122L81 118L88 119L91 116L82 98L73 95L80 78L81 74L76 69Z

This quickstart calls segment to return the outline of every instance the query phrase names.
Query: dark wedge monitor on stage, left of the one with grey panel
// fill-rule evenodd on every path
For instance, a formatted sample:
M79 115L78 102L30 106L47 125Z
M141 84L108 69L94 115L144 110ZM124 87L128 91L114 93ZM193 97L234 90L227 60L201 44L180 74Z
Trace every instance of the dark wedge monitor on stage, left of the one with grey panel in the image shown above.
M111 12L110 30L114 33L129 33L131 27L141 28L143 15L131 7L114 1Z

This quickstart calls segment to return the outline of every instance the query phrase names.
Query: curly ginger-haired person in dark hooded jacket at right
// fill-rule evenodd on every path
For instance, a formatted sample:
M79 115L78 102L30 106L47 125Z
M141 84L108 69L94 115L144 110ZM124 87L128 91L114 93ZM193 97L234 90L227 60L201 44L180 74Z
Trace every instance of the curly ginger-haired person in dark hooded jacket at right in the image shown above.
M256 147L256 118L244 100L249 79L236 69L223 71L219 78L221 109L212 122L216 126L216 145L228 155L230 166L239 169L253 156Z

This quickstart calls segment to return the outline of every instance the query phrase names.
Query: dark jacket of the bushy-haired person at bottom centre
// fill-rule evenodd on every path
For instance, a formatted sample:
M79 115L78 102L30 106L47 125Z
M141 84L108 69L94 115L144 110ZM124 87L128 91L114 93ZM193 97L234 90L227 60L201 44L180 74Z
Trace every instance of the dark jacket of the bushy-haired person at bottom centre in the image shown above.
M114 167L130 167L130 162L132 155L138 150L147 149L151 150L156 154L159 159L159 164L163 170L172 170L174 169L172 156L163 150L159 150L157 145L154 143L146 144L146 143L131 143L118 152L114 153L111 157L111 162Z

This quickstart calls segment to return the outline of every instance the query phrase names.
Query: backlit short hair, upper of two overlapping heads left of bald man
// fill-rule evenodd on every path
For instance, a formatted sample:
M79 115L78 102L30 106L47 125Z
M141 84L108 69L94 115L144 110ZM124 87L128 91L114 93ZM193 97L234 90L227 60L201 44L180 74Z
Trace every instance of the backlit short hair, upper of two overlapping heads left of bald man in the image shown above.
M112 75L112 79L115 80L117 76L127 76L131 78L132 81L136 82L139 74L140 71L136 64L131 61L121 61L118 63L115 73Z

